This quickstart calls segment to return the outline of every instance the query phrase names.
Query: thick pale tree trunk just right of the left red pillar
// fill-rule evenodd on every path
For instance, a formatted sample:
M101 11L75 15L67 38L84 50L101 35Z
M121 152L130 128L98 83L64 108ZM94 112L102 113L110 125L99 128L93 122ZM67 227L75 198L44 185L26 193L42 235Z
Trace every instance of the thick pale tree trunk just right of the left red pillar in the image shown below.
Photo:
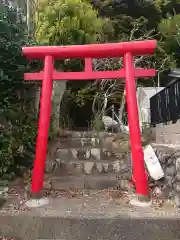
M66 80L53 82L52 93L52 128L53 130L60 127L60 107L66 90Z

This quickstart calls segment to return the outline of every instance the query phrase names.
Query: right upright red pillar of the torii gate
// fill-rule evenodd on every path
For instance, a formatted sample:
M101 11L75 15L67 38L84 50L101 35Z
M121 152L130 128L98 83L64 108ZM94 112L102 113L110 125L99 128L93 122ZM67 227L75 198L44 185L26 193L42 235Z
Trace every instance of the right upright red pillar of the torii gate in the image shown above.
M133 160L133 176L138 195L148 195L148 182L144 166L144 153L141 143L141 131L139 126L138 105L136 98L136 82L134 76L133 56L126 53L124 56L126 103L128 110L128 123Z

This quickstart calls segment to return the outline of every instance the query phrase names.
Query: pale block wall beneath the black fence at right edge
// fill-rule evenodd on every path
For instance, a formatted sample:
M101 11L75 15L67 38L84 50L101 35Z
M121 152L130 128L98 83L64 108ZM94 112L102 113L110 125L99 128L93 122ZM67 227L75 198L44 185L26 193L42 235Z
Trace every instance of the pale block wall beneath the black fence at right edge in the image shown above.
M180 120L176 123L157 124L153 131L158 144L180 145Z

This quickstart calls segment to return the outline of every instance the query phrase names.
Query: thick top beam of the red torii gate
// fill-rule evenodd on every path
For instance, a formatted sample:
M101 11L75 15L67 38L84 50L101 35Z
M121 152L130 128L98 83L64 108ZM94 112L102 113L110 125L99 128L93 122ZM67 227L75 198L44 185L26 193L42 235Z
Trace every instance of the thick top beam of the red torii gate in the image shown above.
M22 51L24 56L32 59L43 59L46 55L58 59L113 58L123 56L126 52L131 52L134 56L151 55L156 45L156 40L147 40L92 45L23 47Z

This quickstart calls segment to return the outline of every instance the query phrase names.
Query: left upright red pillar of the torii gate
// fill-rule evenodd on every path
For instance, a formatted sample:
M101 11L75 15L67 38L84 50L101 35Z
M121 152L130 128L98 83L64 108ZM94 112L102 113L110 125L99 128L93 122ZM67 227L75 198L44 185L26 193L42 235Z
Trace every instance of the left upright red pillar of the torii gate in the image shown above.
M39 127L36 142L36 154L32 174L32 192L39 193L43 188L44 168L48 143L49 123L51 115L52 70L53 58L47 56L44 64L44 80L42 82Z

